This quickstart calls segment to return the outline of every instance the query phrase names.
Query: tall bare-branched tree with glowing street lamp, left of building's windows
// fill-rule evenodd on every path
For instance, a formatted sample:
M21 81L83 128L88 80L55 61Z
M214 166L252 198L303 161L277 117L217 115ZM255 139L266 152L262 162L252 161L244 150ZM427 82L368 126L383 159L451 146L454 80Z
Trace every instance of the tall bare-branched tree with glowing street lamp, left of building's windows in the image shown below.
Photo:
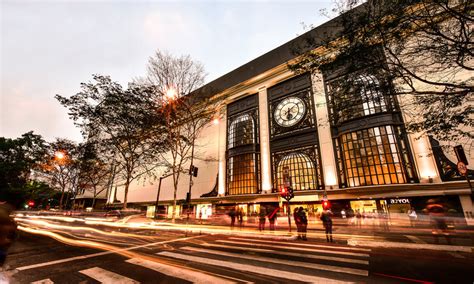
M156 101L162 103L161 111L166 117L165 137L168 151L161 153L161 160L165 172L170 172L173 177L174 222L181 174L190 174L191 190L190 168L195 159L195 142L215 116L218 100L194 92L204 84L206 74L204 67L190 56L174 57L157 51L150 57L147 70L148 75L142 82L155 90Z

